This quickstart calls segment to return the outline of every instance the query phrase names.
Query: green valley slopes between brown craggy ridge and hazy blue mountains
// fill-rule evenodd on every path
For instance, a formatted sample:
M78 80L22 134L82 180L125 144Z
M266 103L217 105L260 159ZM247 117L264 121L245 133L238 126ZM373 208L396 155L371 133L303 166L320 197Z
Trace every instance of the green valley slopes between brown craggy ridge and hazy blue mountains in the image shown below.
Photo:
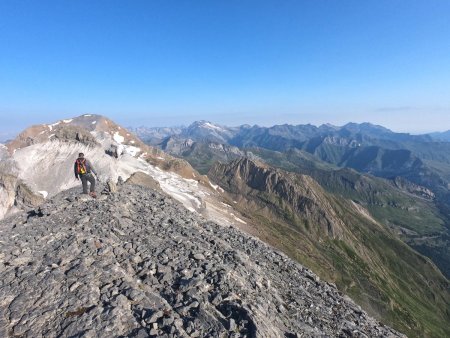
M429 257L450 278L448 215L438 194L401 177L382 179L329 166L303 151L253 149L255 156L287 171L313 177L328 193L352 200L405 243Z

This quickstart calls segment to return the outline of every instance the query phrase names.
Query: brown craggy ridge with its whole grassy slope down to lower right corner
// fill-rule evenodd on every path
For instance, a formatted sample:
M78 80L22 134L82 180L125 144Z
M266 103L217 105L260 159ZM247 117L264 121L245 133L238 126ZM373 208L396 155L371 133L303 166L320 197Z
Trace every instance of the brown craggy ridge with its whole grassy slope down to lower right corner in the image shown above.
M254 235L335 282L370 314L411 336L450 333L447 279L363 205L307 175L249 159L216 164L208 176Z

